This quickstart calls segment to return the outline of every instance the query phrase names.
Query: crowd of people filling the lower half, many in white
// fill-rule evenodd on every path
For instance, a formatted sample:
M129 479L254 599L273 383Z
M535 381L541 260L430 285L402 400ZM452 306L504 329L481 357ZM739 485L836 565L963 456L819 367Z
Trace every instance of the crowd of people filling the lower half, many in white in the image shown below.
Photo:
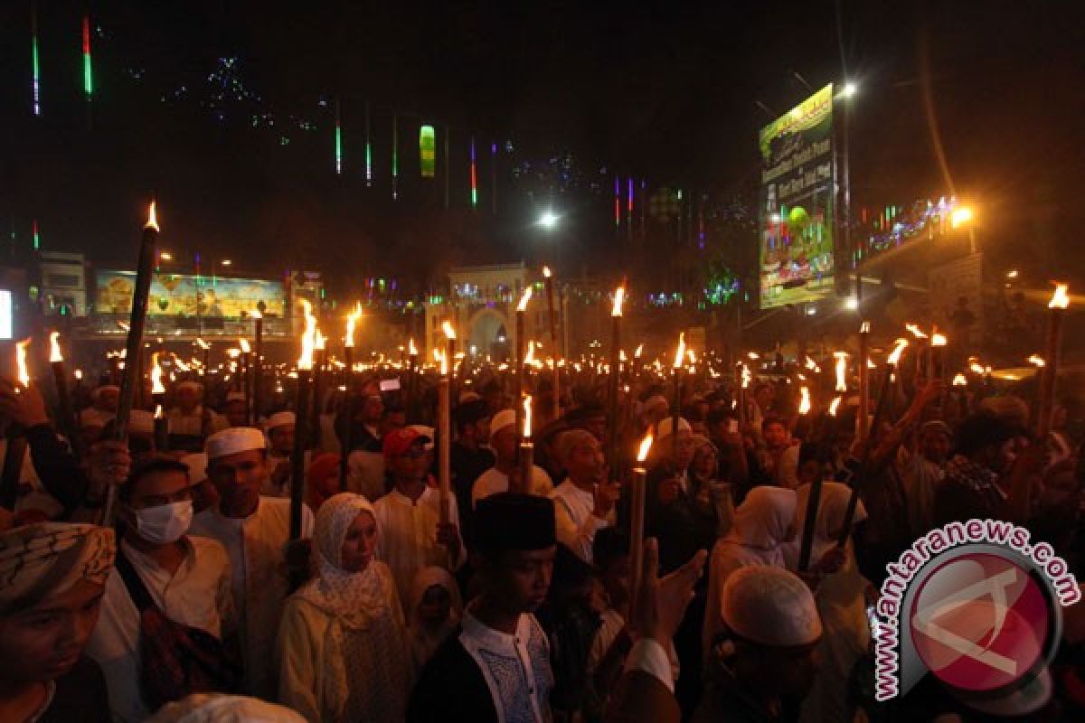
M246 426L243 395L186 380L158 449L150 411L114 440L105 384L66 440L35 385L0 380L5 457L23 455L0 511L0 720L1081 720L1081 605L1031 695L982 706L930 676L877 702L868 615L886 564L953 520L1016 522L1081 571L1068 408L1037 439L1018 396L909 377L863 436L857 398L800 412L794 372L741 390L644 375L618 409L604 380L558 400L536 380L529 469L518 400L461 384L447 498L433 395L374 375L318 400L293 502L294 411Z

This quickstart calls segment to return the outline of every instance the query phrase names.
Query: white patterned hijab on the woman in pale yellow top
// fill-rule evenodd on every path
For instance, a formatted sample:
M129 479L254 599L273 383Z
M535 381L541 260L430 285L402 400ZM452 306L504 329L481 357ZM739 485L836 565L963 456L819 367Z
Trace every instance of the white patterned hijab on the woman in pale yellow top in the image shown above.
M360 572L350 572L342 567L343 540L362 513L369 513L376 520L369 501L350 492L341 492L320 505L312 532L312 555L318 577L297 593L303 599L356 629L368 628L373 618L384 614L392 599L385 577L376 570L376 560L371 560Z

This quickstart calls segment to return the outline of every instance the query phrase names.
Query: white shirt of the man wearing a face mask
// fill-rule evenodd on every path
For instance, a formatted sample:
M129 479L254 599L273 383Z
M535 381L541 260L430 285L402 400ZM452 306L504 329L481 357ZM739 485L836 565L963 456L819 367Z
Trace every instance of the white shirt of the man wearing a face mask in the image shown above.
M219 640L232 635L235 620L226 551L206 538L182 540L188 552L173 574L127 541L120 542L120 552L167 618ZM102 614L86 651L102 667L115 719L142 721L153 712L140 694L140 612L116 569L105 583Z

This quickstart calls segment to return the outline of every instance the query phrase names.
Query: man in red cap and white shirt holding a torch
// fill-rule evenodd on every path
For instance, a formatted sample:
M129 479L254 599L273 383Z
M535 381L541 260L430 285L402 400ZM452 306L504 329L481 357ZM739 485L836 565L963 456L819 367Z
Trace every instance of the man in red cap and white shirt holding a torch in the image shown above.
M392 569L404 606L419 570L431 565L458 570L465 557L456 495L449 494L448 521L442 524L441 492L425 483L427 441L411 427L385 435L384 461L395 487L373 503L378 557Z

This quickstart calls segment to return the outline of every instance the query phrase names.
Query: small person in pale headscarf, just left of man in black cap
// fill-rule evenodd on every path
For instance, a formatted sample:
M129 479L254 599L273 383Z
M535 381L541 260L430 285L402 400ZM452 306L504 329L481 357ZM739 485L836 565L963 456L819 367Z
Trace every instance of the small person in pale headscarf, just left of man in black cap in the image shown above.
M460 624L463 603L451 573L443 567L423 567L410 590L408 648L411 672L417 675L442 643Z

